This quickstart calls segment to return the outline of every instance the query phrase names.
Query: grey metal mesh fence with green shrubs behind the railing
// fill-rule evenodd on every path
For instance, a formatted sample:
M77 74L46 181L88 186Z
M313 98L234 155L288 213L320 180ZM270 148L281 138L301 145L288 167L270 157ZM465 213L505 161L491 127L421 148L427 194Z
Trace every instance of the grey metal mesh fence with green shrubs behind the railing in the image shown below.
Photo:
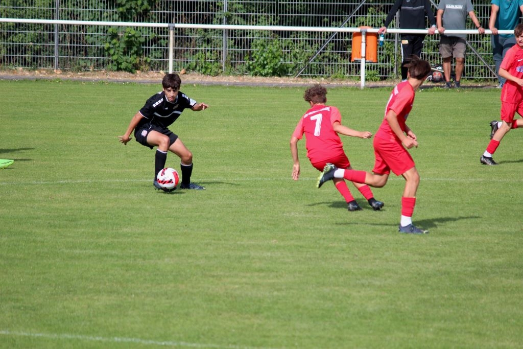
M17 5L19 3L23 6ZM380 27L393 2L379 1L129 1L3 0L3 18L129 21L180 24L287 27ZM121 2L120 2L121 3ZM38 4L38 5L37 5ZM139 5L141 4L141 5ZM436 13L437 3L433 3ZM474 3L488 27L490 2ZM389 27L396 27L393 22ZM428 24L427 24L428 27ZM470 18L467 29L475 29ZM143 70L168 66L166 28L99 25L0 23L0 65L4 69ZM202 74L261 76L331 76L359 79L360 64L351 62L350 33L176 29L174 70ZM366 78L397 78L401 65L399 34L388 34L378 48L378 62L368 63ZM427 36L422 58L440 63L439 36ZM490 35L469 35L464 78L492 80Z

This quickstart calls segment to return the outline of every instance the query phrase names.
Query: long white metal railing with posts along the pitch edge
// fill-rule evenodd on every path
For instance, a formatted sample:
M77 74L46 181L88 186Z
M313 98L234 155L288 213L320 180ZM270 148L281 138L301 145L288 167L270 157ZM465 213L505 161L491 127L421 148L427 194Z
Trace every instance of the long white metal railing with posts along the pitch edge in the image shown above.
M315 31L315 32L359 32L361 33L361 75L360 86L365 87L365 64L367 33L377 33L379 28L339 28L339 27L291 27L291 26L252 26L252 25L214 25L214 24L181 24L181 23L144 23L144 22L115 22L115 21L85 21L85 20L55 20L55 19L24 19L24 18L0 18L0 22L32 23L32 24L64 24L64 25L97 25L97 26L121 26L121 27L154 27L169 29L169 59L168 71L173 72L173 50L175 28L189 29L219 29L219 30L267 30L267 31ZM428 34L427 29L395 29L388 28L388 33L412 33ZM438 31L436 30L438 34ZM446 34L475 34L474 30L445 30ZM513 30L499 30L499 34L511 34ZM491 35L491 30L485 30L484 35Z

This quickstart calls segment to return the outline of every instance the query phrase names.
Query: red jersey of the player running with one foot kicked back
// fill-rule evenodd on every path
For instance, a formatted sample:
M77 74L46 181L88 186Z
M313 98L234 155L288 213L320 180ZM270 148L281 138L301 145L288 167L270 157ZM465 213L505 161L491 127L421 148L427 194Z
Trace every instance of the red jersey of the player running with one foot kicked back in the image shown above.
M397 84L392 90L389 102L385 107L385 116L389 110L394 110L397 115L397 122L400 124L401 130L405 131L405 122L407 121L408 113L411 112L412 104L414 103L414 89L407 81ZM383 139L395 140L399 142L394 131L392 131L389 122L383 118L376 136Z

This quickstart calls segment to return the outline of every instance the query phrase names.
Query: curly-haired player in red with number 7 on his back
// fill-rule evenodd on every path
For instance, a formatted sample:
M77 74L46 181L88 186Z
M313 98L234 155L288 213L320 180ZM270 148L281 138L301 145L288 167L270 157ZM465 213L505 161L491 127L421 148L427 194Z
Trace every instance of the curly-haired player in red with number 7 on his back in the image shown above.
M303 115L292 133L290 140L292 160L292 179L298 181L300 177L300 161L298 159L298 141L305 134L307 157L311 164L318 170L323 171L327 163L336 164L340 168L351 168L349 159L343 151L343 143L338 133L345 136L371 138L369 131L356 131L342 125L342 115L338 108L327 106L327 89L322 85L314 85L306 89L303 99L309 102L311 108ZM347 183L343 178L336 178L334 185L347 202L349 211L361 210L358 202L350 193ZM374 199L368 185L354 183L359 192L367 199L374 210L383 207L383 202Z

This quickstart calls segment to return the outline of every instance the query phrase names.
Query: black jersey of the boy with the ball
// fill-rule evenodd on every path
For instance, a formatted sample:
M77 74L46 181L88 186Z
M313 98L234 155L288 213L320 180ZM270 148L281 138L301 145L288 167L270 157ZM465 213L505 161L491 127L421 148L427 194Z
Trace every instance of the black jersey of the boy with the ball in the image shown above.
M143 118L136 128L166 129L178 119L185 108L192 108L196 104L196 100L187 97L181 91L178 92L174 103L170 103L167 100L163 91L158 92L147 99L145 105L140 109L140 114L143 115Z

